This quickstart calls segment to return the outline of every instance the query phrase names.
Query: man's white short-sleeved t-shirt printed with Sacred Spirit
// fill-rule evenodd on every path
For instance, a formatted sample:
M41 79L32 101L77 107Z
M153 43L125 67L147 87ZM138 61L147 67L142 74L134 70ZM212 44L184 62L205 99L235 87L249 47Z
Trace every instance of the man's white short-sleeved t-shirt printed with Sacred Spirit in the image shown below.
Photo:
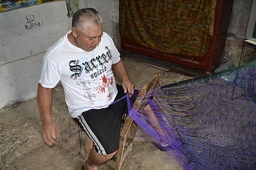
M70 32L45 53L39 83L54 88L61 81L70 116L77 117L113 103L117 89L111 66L120 61L120 53L106 32L91 52L72 45Z

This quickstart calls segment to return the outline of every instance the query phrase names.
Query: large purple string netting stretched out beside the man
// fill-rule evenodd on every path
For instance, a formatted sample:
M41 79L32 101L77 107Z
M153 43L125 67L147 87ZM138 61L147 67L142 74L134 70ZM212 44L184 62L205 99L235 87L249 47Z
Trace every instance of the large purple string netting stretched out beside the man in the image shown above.
M255 169L255 67L160 86L129 115L184 169Z

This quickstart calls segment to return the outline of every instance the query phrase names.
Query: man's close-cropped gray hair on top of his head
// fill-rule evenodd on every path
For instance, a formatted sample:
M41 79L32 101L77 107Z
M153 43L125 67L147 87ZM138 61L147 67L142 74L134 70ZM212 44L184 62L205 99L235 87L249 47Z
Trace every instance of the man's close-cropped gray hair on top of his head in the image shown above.
M83 8L74 13L72 18L72 27L79 27L80 25L100 25L102 18L100 13L93 8Z

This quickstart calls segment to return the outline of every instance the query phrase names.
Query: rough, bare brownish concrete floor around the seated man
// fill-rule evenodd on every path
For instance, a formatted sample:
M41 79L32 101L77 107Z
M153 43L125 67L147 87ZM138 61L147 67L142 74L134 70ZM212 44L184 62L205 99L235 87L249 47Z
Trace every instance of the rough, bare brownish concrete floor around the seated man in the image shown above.
M122 59L136 87L142 87L156 73L161 74L161 85L204 75L203 71L184 69L142 55L131 54ZM36 99L15 104L0 113L0 169L81 169L86 159L84 132L79 132L68 115L62 87L58 86L52 92L52 115L60 131L59 144L54 148L44 145L40 136L41 123ZM115 162L109 160L99 169L114 167ZM152 145L139 129L122 169L182 168Z

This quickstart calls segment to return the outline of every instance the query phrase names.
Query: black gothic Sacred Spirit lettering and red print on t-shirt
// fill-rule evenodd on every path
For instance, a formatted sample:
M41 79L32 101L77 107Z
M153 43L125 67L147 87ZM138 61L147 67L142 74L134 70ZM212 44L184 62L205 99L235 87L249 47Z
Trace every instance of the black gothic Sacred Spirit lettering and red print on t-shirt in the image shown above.
M83 96L91 104L95 103L97 94L106 94L111 99L113 93L110 87L113 87L115 80L113 73L109 72L112 55L108 46L104 50L101 55L83 56L69 62L70 79L80 80L76 84L81 87Z

